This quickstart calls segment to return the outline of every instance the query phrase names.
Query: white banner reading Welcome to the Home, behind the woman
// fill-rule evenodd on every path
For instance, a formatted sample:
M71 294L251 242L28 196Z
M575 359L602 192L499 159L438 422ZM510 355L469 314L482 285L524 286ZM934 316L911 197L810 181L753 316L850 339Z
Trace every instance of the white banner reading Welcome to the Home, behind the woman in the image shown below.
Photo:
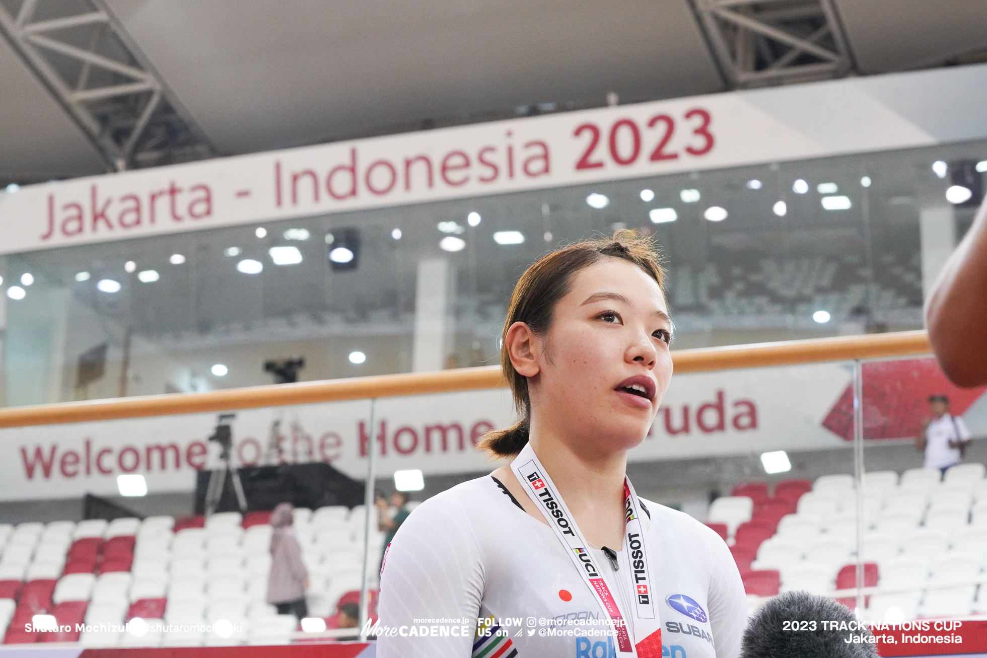
M821 423L849 381L834 364L676 376L631 460L845 445ZM274 435L281 460L325 461L356 479L371 445L381 477L493 470L475 446L512 418L506 390L381 399L372 431L366 401L249 409L231 425L233 462L265 463ZM151 492L188 491L196 471L216 464L215 422L197 413L0 430L0 499L114 494L116 475L131 473Z

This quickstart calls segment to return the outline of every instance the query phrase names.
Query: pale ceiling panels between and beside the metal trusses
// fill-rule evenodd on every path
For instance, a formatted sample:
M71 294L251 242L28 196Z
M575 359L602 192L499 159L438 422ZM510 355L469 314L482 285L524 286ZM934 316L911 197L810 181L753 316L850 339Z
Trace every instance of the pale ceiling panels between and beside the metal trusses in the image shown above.
M66 0L42 0L59 2ZM105 0L223 154L722 91L687 0ZM983 0L837 0L864 73L987 47ZM0 39L0 177L105 171Z

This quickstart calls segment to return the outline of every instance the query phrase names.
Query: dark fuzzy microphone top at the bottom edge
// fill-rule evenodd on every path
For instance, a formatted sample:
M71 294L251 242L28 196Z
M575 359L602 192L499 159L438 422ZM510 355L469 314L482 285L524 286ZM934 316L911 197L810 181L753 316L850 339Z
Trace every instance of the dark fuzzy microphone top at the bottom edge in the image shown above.
M877 658L877 648L871 629L843 604L786 592L751 616L740 658Z

